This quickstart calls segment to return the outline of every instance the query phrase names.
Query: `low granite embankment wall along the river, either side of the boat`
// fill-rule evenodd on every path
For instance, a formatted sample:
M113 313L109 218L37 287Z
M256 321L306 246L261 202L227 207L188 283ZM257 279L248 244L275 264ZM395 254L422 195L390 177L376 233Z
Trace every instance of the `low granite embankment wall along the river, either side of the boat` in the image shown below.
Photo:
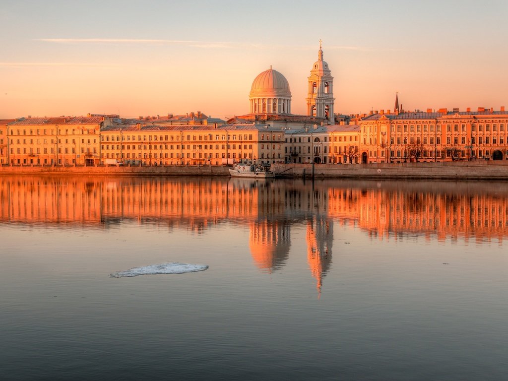
M508 161L394 164L274 164L278 177L362 179L460 179L508 180ZM106 176L229 176L227 167L133 166L133 167L38 167L3 166L2 174L61 174Z

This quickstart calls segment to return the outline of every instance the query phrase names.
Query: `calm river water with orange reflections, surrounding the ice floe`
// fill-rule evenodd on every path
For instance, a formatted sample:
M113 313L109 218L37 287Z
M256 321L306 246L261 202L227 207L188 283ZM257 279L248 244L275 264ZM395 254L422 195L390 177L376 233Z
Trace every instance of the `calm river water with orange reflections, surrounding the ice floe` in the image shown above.
M0 176L0 195L2 379L506 379L506 183ZM167 262L209 268L110 277Z

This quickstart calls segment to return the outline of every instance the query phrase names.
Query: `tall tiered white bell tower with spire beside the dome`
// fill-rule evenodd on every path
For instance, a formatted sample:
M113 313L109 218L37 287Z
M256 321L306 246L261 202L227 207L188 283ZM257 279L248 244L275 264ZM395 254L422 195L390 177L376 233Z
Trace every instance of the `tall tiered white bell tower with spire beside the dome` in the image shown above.
M328 120L335 124L333 118L333 77L328 63L323 60L322 41L319 41L317 61L314 62L308 77L307 115Z

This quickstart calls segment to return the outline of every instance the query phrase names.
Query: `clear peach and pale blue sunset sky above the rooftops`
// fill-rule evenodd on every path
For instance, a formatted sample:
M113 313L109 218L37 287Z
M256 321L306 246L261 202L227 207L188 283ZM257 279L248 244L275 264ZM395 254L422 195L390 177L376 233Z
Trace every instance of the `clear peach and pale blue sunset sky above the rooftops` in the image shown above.
M249 112L258 74L306 113L319 40L336 113L508 106L508 1L2 0L0 118Z

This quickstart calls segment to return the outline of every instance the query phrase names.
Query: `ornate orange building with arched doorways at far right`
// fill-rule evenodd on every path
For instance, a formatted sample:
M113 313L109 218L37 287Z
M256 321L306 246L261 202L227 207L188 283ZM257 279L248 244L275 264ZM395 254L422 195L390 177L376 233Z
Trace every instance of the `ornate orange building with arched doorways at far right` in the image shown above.
M508 114L478 111L372 113L359 121L362 163L503 160L508 158Z

